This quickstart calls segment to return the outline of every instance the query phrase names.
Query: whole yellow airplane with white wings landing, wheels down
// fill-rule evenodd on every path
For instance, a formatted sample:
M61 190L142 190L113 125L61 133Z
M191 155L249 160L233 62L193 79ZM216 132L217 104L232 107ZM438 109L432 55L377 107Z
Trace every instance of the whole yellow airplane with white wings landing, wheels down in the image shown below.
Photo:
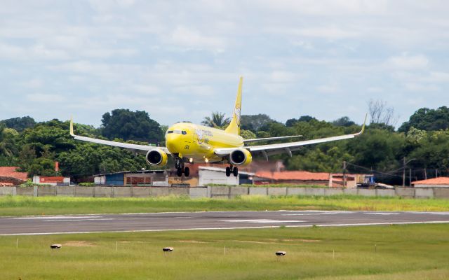
M75 135L73 131L73 120L70 120L70 135L72 135L72 137L74 137L74 139L76 140L121 147L135 153L146 154L147 163L152 166L162 167L166 165L168 155L171 155L175 160L177 176L182 176L182 174L184 174L186 177L189 176L189 167L185 167L185 163L228 162L229 167L226 168L226 176L229 177L231 174L233 174L234 176L238 176L238 167L249 165L253 160L253 154L255 153L262 154L267 160L269 155L279 153L287 153L291 157L292 152L299 150L301 146L350 139L358 137L363 133L363 130L365 130L366 117L361 131L354 134L346 134L337 137L327 137L306 141L286 142L281 144L246 146L246 144L249 142L291 139L300 137L300 135L260 139L243 139L240 136L242 83L243 77L240 78L239 89L237 90L236 103L234 106L234 113L232 114L232 120L226 130L218 130L213 127L194 125L192 123L176 123L175 125L169 127L166 132L166 147L127 144L78 136Z

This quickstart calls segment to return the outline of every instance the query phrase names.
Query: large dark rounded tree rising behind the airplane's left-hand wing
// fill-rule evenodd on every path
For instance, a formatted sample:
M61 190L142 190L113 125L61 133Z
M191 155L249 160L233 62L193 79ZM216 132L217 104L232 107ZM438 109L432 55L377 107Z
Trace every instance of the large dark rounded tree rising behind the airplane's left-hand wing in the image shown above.
M161 126L145 111L115 109L102 116L102 135L107 139L148 141L163 140Z

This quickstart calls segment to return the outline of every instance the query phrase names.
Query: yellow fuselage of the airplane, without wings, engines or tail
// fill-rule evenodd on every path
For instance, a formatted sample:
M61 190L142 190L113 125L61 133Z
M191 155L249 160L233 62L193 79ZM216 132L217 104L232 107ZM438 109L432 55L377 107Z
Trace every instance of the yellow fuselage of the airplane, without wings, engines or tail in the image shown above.
M243 147L239 135L193 123L176 123L168 128L165 137L170 153L194 162L220 162L222 158L215 155L215 148Z

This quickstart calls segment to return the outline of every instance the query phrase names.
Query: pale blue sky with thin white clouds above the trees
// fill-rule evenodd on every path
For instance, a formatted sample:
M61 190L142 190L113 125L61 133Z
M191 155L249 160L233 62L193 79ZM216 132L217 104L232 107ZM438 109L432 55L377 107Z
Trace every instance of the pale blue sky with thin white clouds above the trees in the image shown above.
M0 120L113 109L161 125L242 114L349 116L370 99L398 125L449 106L449 2L0 0Z

